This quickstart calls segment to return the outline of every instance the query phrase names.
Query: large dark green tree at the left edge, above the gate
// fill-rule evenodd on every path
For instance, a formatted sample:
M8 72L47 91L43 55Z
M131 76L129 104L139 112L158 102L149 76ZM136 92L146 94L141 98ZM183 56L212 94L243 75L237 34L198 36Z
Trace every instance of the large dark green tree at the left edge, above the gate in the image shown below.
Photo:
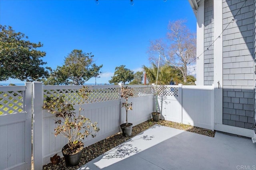
M46 62L41 59L46 53L36 50L43 44L26 39L25 34L15 32L11 26L0 25L0 81L39 81L48 77L48 71L42 67Z

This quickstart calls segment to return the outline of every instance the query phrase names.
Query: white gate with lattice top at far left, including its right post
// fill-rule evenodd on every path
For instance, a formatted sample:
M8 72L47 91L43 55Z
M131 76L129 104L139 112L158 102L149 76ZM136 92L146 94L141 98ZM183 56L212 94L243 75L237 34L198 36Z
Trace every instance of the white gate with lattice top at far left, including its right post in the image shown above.
M31 169L32 83L0 86L0 170Z

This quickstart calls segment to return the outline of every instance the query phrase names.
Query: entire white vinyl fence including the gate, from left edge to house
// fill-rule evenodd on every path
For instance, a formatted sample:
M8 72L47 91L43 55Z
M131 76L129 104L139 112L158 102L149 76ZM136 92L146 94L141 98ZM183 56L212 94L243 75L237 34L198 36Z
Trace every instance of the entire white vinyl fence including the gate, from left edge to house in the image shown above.
M93 91L82 105L82 114L98 122L100 131L95 138L85 138L84 146L120 132L120 124L126 121L125 109L121 108L121 86L91 86ZM128 123L136 126L151 119L155 107L152 86L124 86L134 89L134 96L128 99L133 103ZM36 170L49 163L54 154L62 156L61 149L67 140L54 136L55 117L43 110L42 105L47 96L64 95L78 110L77 92L81 87L45 86L40 82L0 86L0 170L31 169L31 145ZM162 119L213 130L213 94L213 86L167 85L158 95Z

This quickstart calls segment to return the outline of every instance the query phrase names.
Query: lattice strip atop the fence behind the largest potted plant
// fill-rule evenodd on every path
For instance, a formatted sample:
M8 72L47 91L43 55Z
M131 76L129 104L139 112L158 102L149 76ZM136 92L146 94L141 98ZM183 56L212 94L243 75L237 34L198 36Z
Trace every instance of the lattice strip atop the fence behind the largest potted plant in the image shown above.
M79 95L79 89L59 89L44 91L44 99L46 99L46 96L59 97L61 95L65 96L66 101L75 105L78 105L81 100L81 97ZM98 103L118 100L119 97L119 88L94 88L92 89L92 93L89 95L89 98L87 99L86 103Z

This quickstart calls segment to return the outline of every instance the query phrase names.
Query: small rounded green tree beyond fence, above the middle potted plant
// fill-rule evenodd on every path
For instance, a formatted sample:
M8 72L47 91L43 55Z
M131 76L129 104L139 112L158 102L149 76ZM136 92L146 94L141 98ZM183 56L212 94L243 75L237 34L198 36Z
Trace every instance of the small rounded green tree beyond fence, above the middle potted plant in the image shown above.
M132 79L134 79L134 72L130 69L125 68L125 65L120 65L119 67L116 67L114 76L111 77L112 79L108 81L109 83L124 83L126 81L130 82Z

